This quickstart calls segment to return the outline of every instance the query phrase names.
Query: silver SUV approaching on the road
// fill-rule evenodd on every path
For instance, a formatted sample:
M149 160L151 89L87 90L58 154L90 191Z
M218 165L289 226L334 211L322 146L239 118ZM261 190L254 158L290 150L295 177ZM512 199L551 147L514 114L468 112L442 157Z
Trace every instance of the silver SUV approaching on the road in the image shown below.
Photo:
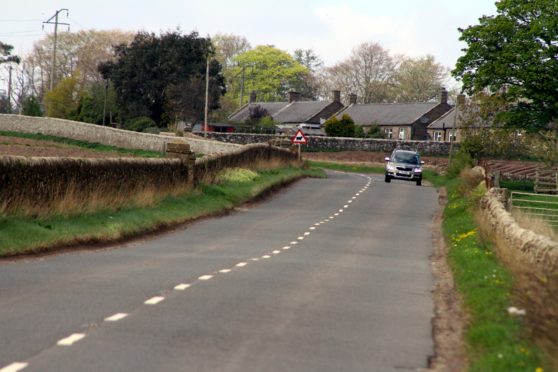
M386 182L392 178L414 181L417 186L422 184L422 164L416 151L393 150L391 156L386 158Z

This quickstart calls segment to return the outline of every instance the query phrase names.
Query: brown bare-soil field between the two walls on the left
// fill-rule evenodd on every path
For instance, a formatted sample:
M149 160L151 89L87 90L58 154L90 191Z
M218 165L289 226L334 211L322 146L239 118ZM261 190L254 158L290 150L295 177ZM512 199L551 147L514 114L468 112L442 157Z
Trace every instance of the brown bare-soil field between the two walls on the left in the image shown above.
M101 152L52 141L0 136L0 156L41 156L68 158L129 158L132 154Z

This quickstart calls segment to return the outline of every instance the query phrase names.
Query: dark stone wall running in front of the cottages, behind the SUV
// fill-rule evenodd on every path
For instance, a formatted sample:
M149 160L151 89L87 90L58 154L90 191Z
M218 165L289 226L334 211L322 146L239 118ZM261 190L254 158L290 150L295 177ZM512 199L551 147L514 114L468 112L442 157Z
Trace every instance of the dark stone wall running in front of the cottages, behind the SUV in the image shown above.
M226 143L248 144L267 143L270 139L277 138L271 134L245 134L245 133L208 133L208 137ZM423 155L448 155L450 142L432 141L396 141L385 139L361 139L340 137L313 137L308 136L309 151L374 151L389 153L395 148L417 150ZM454 143L457 149L458 144Z

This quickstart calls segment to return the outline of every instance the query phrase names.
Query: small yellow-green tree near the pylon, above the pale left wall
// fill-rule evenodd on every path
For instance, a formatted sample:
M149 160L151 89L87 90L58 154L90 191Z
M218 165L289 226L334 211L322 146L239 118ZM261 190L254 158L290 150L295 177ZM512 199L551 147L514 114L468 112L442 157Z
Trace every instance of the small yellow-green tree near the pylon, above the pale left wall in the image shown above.
M77 97L80 92L78 80L77 75L64 78L47 92L45 95L47 116L62 119L74 118L78 107Z

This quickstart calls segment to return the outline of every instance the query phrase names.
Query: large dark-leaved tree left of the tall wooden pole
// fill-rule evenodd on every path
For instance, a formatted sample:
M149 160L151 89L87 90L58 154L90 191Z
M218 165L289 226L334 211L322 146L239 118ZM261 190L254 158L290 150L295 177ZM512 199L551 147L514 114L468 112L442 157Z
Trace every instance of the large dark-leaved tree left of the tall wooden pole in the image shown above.
M104 78L114 84L121 115L125 118L147 116L159 126L167 126L180 119L180 114L193 110L203 112L206 59L213 54L211 41L196 32L183 35L178 31L156 36L138 33L130 45L115 48L115 60L101 64ZM225 93L221 65L212 62L210 82L218 90L212 95L211 107L218 107L218 99ZM196 86L196 95L185 101ZM188 109L188 110L186 110Z

